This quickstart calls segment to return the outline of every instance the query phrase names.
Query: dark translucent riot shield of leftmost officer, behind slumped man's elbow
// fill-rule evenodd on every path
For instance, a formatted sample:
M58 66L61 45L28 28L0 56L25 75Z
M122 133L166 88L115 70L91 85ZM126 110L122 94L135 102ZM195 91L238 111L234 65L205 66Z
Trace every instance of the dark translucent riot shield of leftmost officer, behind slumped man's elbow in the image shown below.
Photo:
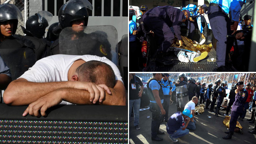
M19 78L36 62L35 52L30 48L0 49L0 55L11 70L12 80Z

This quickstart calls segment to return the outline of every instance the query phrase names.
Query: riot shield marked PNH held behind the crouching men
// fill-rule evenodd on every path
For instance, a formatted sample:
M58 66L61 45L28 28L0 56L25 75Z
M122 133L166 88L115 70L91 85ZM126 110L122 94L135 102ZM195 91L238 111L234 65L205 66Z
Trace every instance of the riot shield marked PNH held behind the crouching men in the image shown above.
M179 107L184 108L189 102L189 95L187 93L187 85L176 87L177 99L179 102Z

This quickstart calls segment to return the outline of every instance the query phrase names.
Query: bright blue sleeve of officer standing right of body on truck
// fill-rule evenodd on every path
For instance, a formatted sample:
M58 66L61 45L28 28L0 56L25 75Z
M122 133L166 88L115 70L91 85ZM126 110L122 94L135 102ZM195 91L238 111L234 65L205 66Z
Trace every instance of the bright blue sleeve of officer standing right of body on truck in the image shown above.
M229 10L231 12L232 20L239 21L240 10L243 5L243 0L235 0L230 3Z

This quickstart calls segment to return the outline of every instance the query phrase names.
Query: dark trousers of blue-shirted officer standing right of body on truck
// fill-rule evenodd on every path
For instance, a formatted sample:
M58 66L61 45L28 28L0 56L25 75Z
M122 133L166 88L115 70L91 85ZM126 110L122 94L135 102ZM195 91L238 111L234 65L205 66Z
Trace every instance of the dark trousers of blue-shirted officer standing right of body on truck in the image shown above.
M228 38L231 35L230 29L231 19L219 6L208 7L208 18L213 31L213 35L217 40L216 43L216 64L217 67L225 66L225 59L230 51L234 39ZM227 55L226 55L227 54Z

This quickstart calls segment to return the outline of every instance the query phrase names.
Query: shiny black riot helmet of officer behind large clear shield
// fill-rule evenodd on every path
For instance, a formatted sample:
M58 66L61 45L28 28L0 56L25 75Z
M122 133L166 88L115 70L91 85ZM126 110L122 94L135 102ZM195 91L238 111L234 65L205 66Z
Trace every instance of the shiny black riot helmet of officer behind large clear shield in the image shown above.
M71 22L78 19L84 19L84 26L88 23L88 11L92 10L92 4L87 0L70 0L61 6L58 12L59 27L64 29L70 27Z

